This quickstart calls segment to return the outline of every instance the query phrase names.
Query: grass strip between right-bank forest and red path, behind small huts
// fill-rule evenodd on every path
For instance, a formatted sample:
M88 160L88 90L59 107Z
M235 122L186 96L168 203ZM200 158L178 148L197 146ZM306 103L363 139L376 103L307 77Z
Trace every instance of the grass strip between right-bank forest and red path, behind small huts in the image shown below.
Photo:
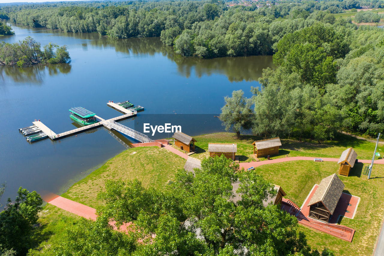
M236 138L235 133L212 133L194 137L197 153L191 155L194 158L204 159L209 156L208 143L237 143L237 153L240 162L252 161L253 146L255 140L261 140L258 136L242 135L240 139ZM349 147L353 147L358 153L358 159L371 159L375 149L375 143L365 140L359 140L353 136L340 134L337 140L325 141L323 144L300 142L295 140L281 140L282 146L279 155L271 158L281 158L288 156L313 156L313 157L332 157L339 158L341 153ZM384 154L384 145L379 144L377 152ZM184 151L183 151L184 152ZM381 155L382 155L381 154ZM265 160L266 157L259 158Z

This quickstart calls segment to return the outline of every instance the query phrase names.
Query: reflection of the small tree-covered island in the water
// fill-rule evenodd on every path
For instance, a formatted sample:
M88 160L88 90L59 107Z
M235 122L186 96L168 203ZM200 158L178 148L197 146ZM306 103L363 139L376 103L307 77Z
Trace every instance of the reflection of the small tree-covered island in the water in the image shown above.
M49 66L28 66L23 68L19 68L15 65L3 65L0 66L0 81L5 81L6 78L12 78L12 80L17 83L29 82L40 85L47 73L50 76L55 76L58 74L68 74L70 72L71 64L68 63ZM5 85L6 83L1 84Z

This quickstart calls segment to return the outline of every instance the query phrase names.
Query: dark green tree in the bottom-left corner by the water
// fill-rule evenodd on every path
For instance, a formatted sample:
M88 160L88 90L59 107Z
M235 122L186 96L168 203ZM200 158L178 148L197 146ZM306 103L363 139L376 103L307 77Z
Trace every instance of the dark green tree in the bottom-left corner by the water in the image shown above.
M3 249L26 254L31 247L31 230L37 222L42 203L36 191L30 193L22 187L17 191L15 201L8 198L4 211L0 213L0 244Z

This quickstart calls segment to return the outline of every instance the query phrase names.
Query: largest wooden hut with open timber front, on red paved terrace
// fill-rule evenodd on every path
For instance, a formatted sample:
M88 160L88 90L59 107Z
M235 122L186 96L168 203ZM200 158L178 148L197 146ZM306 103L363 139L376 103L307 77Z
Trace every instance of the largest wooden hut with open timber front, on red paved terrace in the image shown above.
M336 205L343 193L344 183L334 173L323 180L314 192L308 206L310 213L308 217L328 222Z

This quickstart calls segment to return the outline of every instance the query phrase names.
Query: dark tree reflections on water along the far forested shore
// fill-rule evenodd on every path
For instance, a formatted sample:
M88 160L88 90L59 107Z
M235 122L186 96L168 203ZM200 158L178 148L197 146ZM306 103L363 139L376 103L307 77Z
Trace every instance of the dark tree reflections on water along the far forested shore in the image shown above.
M20 30L18 26L14 25L13 27L16 30ZM164 45L159 37L118 39L101 36L98 33L72 33L44 28L27 28L27 30L33 33L47 33L53 37L63 37L65 41L63 43L70 48L71 44L79 43L78 41L73 42L70 39L83 40L80 45L84 52L88 52L90 48L96 50L109 48L114 49L116 52L132 55L154 56L160 53L176 63L178 73L187 78L193 73L199 78L203 75L222 74L227 76L231 82L257 81L262 75L263 68L275 68L271 56L223 57L214 59L181 57L175 55L173 47ZM59 40L55 39L54 41Z

